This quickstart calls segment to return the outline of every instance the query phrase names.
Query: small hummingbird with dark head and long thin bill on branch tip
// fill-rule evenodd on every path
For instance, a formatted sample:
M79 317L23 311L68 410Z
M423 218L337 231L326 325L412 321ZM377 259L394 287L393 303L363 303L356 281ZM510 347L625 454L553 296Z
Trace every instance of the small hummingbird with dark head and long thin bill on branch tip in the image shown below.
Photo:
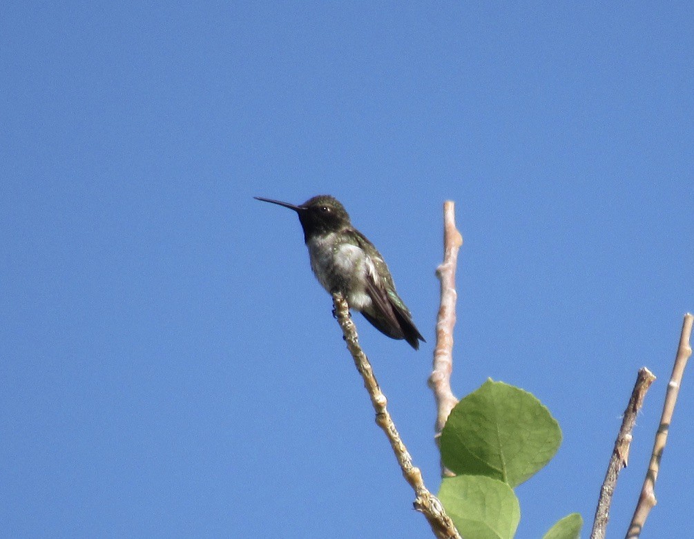
M298 214L311 269L328 293L341 292L350 309L361 312L373 327L391 339L405 339L418 350L424 337L398 296L388 266L373 243L353 227L336 198L314 196L298 206L260 196L255 199Z

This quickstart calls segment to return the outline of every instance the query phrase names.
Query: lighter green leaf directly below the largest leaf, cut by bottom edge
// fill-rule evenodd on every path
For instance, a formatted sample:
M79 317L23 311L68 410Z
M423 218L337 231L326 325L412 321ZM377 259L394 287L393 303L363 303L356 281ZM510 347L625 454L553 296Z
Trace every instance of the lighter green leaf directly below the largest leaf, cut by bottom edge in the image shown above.
M465 538L511 539L521 520L521 507L514 491L491 477L447 477L441 483L439 499Z

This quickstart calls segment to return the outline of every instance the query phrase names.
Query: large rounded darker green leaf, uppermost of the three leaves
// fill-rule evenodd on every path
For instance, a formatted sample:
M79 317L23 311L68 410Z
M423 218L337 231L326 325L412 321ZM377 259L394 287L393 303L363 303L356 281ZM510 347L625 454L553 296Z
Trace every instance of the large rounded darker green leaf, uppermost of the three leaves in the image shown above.
M561 429L531 393L487 380L462 399L441 433L441 458L458 475L485 475L511 487L555 455Z

